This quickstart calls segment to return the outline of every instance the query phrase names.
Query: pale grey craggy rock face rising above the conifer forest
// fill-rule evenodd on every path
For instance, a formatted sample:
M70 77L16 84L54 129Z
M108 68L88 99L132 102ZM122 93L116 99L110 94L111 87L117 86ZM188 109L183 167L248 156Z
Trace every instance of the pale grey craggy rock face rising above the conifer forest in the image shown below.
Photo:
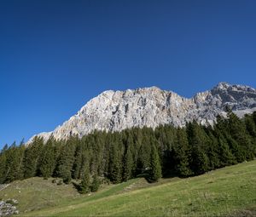
M238 115L256 111L256 90L244 85L218 83L212 90L195 94L187 99L172 91L156 87L108 90L90 100L67 122L49 133L38 134L47 140L67 139L71 134L84 134L96 130L120 131L125 128L160 124L184 126L196 120L212 124L218 114L225 115L225 106Z

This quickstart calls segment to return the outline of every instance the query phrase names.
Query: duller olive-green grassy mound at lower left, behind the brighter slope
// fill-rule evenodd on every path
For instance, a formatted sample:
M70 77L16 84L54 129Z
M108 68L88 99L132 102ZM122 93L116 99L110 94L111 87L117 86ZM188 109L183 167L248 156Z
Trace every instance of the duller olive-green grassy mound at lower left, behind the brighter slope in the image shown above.
M68 201L80 197L72 186L56 186L51 180L34 177L15 181L0 191L0 199L15 198L19 201L20 212L27 212L59 205L63 199Z

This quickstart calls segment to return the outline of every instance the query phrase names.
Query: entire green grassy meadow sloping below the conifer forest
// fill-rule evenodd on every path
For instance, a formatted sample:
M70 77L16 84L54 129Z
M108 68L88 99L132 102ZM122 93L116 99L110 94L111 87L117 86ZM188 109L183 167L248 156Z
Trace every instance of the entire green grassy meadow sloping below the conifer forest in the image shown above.
M256 216L256 161L156 184L129 180L90 196L32 178L12 183L1 197L18 199L20 216Z

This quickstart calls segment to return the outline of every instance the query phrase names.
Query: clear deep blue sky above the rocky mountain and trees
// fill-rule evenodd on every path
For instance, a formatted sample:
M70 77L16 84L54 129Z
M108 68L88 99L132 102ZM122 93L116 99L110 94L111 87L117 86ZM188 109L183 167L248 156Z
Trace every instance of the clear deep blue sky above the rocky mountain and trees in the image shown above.
M255 0L1 0L0 147L106 89L255 88L255 11Z

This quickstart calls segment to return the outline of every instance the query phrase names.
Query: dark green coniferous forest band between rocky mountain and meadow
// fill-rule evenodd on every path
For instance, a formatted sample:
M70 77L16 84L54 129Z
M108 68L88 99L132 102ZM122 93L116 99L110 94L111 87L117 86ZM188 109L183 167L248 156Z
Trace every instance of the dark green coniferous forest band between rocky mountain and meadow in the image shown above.
M243 118L228 111L214 126L187 123L121 132L94 132L81 139L4 146L0 153L0 183L41 176L78 180L79 191L97 191L102 181L113 184L138 176L149 182L160 177L188 177L256 157L256 111Z

